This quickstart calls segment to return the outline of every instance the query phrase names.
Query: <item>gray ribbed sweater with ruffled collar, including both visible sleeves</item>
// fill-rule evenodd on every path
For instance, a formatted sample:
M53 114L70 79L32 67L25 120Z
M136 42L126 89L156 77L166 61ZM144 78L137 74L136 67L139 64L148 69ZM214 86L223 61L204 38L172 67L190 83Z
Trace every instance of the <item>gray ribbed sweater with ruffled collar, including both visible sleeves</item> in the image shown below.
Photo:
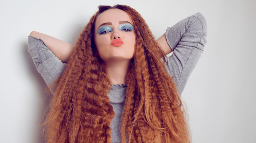
M171 76L174 76L173 80L181 94L203 53L207 35L206 20L201 13L196 13L171 28L168 27L165 34L169 46L174 51L168 57L165 68ZM61 75L66 65L49 50L42 39L29 36L28 43L28 50L37 71L41 73L46 84L51 85ZM115 117L110 125L113 143L121 142L120 125L125 94L126 85L117 84L112 85L108 95L115 112Z

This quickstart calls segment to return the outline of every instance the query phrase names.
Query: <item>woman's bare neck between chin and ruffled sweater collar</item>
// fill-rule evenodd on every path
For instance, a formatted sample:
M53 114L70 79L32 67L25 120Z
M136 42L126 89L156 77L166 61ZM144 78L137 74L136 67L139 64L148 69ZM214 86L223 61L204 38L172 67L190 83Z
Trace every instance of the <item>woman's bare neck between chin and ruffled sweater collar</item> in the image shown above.
M125 77L130 65L130 60L105 62L108 78L111 85L126 84Z

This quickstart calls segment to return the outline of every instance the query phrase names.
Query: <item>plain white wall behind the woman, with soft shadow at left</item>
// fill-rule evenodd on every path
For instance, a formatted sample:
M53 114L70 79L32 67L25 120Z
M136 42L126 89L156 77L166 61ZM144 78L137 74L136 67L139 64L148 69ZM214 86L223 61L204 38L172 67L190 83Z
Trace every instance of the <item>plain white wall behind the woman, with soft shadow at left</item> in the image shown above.
M156 38L201 12L207 44L182 94L193 142L256 142L254 0L1 1L0 142L43 142L39 125L50 99L27 50L30 32L75 44L97 6L115 4L135 8Z

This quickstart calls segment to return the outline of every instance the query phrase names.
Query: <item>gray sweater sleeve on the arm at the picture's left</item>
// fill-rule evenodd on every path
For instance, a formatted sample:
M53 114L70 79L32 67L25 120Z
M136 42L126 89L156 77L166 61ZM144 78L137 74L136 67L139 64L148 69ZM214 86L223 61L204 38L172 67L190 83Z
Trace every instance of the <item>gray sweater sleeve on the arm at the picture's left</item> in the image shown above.
M42 39L29 36L28 44L37 71L50 86L62 74L66 65L53 54Z

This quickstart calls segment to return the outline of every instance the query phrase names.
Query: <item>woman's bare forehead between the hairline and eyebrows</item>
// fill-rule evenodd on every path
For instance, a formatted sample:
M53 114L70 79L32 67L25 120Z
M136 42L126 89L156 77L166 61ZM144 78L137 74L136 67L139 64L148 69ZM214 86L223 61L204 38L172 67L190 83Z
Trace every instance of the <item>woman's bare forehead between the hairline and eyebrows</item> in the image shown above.
M119 21L128 21L132 24L132 20L130 16L121 9L108 9L98 15L95 27L97 28L99 25L103 23L111 22L112 24L118 23Z

